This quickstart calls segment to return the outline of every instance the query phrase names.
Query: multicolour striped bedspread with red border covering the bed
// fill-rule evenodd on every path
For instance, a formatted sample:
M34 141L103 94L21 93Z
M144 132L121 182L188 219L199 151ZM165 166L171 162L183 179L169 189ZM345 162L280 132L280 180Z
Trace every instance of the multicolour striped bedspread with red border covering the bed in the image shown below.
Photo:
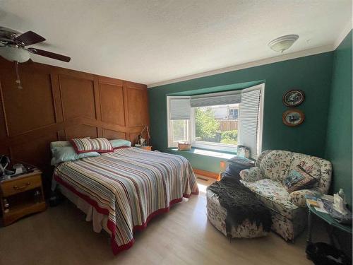
M133 232L150 218L169 211L183 196L198 194L186 158L139 148L61 163L54 179L108 216L114 254L131 247Z

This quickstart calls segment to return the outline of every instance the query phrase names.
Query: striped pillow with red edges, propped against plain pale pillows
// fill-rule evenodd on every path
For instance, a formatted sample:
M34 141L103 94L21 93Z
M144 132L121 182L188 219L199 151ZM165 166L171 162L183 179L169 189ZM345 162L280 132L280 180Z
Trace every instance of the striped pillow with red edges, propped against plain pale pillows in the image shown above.
M74 138L71 139L71 143L76 153L107 153L114 151L112 144L105 138Z

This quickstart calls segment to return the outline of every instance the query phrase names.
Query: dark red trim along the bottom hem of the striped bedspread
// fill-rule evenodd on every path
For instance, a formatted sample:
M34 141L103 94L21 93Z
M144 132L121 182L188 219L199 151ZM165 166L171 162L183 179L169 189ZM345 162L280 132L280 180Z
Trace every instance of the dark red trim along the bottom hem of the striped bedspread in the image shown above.
M70 184L67 184L66 182L64 182L64 180L62 180L58 175L54 175L54 179L59 182L61 185L63 185L64 187L66 187L67 189L69 189L71 192L73 192L74 194L76 194L77 196L79 196L81 199L84 199L85 201L88 202L88 204L92 205L93 207L95 207L95 209L97 210L98 213L102 213L106 216L109 215L109 211L107 209L104 209L102 207L100 207L97 202L93 199L90 199L89 196L82 194L80 192L78 192L74 187L72 187ZM198 195L198 192L191 192L191 194L195 194ZM184 198L189 198L191 196L191 194L183 194ZM147 227L148 222L154 218L155 216L159 215L160 213L167 213L169 211L170 206L172 206L173 204L177 204L179 202L183 201L183 198L179 198L179 199L174 199L172 201L169 202L169 207L167 208L162 208L159 209L153 213L151 213L148 218L146 219L145 223L143 223L142 225L135 225L133 227L133 233L135 233L138 230L143 230ZM109 228L110 232L112 232L112 236L110 238L110 244L112 246L112 251L113 254L119 254L119 252L122 252L126 249L129 249L130 247L133 246L133 243L135 242L135 239L133 238L130 242L128 242L127 244L124 245L117 245L115 242L115 223L112 220L107 221L107 227Z

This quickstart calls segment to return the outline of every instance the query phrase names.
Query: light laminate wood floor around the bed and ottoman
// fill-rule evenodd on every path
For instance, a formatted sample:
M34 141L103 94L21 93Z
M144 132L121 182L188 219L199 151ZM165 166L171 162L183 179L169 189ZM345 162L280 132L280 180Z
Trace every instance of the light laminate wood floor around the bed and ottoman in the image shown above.
M305 235L295 244L270 233L257 239L229 240L206 217L201 194L172 206L136 234L131 249L114 256L107 233L92 231L82 212L68 201L0 228L0 264L312 264Z

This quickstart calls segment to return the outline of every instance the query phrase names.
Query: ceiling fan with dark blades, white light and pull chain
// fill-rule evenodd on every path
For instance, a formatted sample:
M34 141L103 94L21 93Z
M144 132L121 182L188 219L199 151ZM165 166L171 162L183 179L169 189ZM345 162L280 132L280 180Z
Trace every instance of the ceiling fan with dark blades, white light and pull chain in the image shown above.
M32 31L20 33L11 28L0 27L0 56L8 61L15 62L17 76L16 83L18 84L18 88L22 88L20 85L20 76L18 74L18 63L28 61L30 59L30 54L37 54L59 61L70 61L70 57L61 54L44 51L43 49L26 47L28 45L44 42L44 40L44 37Z

